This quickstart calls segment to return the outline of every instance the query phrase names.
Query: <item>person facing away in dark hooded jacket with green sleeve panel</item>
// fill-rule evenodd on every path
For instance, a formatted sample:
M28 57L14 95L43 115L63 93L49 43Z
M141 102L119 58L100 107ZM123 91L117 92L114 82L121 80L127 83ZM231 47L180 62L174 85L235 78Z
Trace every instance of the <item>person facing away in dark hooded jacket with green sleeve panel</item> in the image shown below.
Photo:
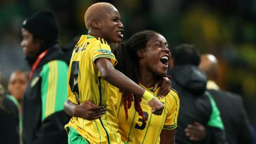
M181 44L171 49L172 60L169 75L172 88L180 98L180 111L175 142L180 143L226 143L224 127L219 110L211 97L206 94L207 77L198 68L200 53L195 46ZM191 139L186 128L191 123L201 123L207 133L201 140Z

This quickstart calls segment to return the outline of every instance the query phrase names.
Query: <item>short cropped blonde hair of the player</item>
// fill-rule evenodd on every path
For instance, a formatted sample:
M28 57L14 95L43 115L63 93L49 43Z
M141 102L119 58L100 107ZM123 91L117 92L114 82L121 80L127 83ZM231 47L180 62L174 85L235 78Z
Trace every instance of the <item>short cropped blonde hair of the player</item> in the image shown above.
M108 10L113 9L113 7L115 6L105 2L95 3L90 7L88 7L88 9L84 14L84 21L85 21L86 28L90 29L90 24L93 20L101 19L104 16L104 14L106 14Z

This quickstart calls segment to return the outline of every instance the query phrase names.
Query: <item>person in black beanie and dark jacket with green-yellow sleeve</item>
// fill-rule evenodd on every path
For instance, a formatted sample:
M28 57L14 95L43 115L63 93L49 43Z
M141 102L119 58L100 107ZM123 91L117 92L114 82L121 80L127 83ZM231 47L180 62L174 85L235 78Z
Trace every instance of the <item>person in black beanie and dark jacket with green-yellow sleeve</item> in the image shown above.
M35 13L22 24L21 47L31 67L22 101L24 144L68 143L64 125L69 116L63 103L69 61L58 45L59 31L59 23L49 11Z

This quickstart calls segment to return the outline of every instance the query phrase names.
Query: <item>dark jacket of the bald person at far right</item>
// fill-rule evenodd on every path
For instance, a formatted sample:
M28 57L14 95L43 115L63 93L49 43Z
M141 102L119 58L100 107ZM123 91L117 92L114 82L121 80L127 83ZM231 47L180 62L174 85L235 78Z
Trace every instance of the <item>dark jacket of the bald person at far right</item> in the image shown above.
M220 110L228 143L253 143L253 129L244 109L242 98L226 91L208 91Z

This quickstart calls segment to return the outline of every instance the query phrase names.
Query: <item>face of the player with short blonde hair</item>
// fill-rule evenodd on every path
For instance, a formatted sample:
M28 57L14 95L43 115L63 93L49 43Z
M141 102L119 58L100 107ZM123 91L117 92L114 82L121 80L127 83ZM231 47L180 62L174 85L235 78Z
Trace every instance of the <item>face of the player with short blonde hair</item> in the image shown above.
M101 38L104 38L108 43L120 43L122 41L124 26L120 14L114 6L106 10L106 14L99 22Z

